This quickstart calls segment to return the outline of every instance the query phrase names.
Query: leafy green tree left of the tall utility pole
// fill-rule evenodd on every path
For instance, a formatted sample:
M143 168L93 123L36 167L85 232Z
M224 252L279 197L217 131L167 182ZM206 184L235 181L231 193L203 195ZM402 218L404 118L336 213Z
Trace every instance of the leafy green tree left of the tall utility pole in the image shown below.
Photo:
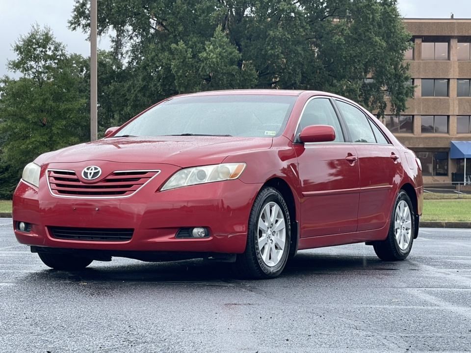
M89 140L90 115L86 61L67 54L50 28L33 25L13 50L7 67L22 76L0 79L0 178L16 183L39 154Z

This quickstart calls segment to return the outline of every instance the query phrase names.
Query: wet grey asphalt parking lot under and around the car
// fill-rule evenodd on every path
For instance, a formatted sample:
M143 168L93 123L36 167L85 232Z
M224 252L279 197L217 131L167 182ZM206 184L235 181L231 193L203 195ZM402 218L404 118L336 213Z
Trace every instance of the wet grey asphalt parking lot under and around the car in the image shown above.
M406 261L299 252L281 277L114 258L59 272L0 219L0 352L470 352L471 229L423 228Z

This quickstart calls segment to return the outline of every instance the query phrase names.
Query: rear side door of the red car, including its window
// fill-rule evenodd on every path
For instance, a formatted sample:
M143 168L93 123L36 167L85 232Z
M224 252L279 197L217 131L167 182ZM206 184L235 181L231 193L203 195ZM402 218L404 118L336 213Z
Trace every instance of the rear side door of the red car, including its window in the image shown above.
M358 231L387 226L402 166L399 153L380 128L360 108L336 100L350 133L360 167Z

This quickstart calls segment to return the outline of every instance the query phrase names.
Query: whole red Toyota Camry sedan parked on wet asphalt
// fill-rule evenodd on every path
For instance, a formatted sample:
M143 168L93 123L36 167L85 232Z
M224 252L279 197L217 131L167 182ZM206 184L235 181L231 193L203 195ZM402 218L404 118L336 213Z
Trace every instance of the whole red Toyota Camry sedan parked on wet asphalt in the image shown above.
M422 204L414 152L358 104L219 91L169 98L99 141L40 155L16 188L13 226L58 270L209 258L268 278L303 249L364 242L403 260Z

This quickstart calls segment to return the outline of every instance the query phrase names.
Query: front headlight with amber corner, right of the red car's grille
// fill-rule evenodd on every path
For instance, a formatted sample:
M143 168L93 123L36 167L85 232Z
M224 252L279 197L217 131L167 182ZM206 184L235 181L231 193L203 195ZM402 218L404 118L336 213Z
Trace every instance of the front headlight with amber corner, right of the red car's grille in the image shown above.
M160 191L188 185L237 179L244 171L245 165L245 163L226 163L185 168L179 170L170 179L168 179Z

